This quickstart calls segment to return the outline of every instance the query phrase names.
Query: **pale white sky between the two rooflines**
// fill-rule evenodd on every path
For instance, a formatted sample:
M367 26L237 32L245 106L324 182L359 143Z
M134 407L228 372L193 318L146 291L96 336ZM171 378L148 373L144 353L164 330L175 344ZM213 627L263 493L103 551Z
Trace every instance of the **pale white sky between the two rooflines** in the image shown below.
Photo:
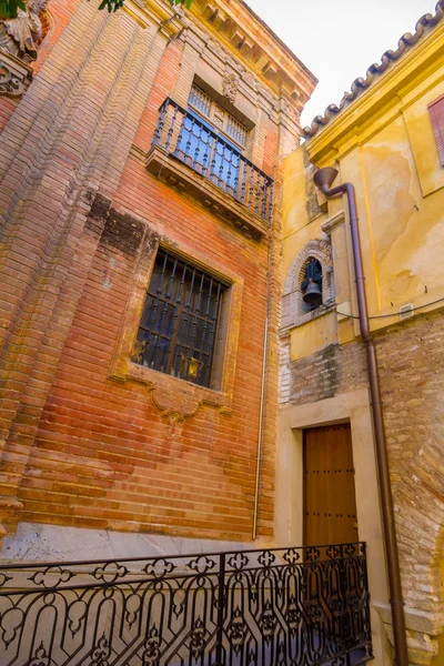
M319 79L301 122L339 104L352 81L395 50L437 0L246 0Z

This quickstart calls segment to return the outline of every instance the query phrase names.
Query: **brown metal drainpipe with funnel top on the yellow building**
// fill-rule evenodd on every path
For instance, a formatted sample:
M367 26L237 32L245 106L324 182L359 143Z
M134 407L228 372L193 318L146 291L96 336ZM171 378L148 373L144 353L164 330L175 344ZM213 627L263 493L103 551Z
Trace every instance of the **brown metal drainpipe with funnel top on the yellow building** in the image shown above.
M393 511L392 486L390 482L387 446L385 441L384 420L382 414L381 387L377 373L377 359L373 336L369 326L367 302L364 287L364 271L360 232L356 215L356 199L354 186L343 183L332 188L337 171L332 167L320 169L314 174L314 184L322 190L325 196L346 194L349 202L350 228L352 233L353 262L356 275L357 310L360 315L361 335L366 346L367 372L370 393L372 398L373 426L375 433L375 447L377 472L380 481L380 498L384 525L385 557L389 573L390 604L392 607L393 638L395 647L396 666L408 666L407 640L405 634L404 602L401 587L400 558L396 543L396 527Z

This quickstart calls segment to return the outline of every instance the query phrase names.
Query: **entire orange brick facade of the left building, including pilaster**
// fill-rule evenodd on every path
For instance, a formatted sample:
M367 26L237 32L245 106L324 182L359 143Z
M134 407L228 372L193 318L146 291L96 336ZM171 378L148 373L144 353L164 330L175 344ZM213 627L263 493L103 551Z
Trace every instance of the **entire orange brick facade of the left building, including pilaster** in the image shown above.
M23 521L249 539L266 321L259 534L273 534L280 164L301 103L283 107L276 81L244 67L263 95L252 159L275 180L273 222L251 238L147 171L159 107L186 99L206 16L149 7L109 17L91 2L50 3L31 85L20 101L0 98L3 534ZM313 80L294 62L303 100ZM135 334L134 293L159 243L242 286L222 396L113 371L129 365L119 350Z

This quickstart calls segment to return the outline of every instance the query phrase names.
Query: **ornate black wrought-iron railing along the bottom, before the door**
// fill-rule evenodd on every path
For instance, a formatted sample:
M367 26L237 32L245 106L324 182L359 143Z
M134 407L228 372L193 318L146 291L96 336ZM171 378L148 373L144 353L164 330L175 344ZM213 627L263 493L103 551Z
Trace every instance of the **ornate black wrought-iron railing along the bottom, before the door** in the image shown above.
M365 544L0 567L2 666L351 666Z

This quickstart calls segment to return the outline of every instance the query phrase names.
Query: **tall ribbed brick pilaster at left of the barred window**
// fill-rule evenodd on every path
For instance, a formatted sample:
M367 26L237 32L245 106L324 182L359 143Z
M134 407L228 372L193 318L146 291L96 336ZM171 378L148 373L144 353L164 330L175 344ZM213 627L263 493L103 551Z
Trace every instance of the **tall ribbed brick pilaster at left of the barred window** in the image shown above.
M165 46L155 26L81 3L1 135L6 529L97 249L91 204L118 185Z

